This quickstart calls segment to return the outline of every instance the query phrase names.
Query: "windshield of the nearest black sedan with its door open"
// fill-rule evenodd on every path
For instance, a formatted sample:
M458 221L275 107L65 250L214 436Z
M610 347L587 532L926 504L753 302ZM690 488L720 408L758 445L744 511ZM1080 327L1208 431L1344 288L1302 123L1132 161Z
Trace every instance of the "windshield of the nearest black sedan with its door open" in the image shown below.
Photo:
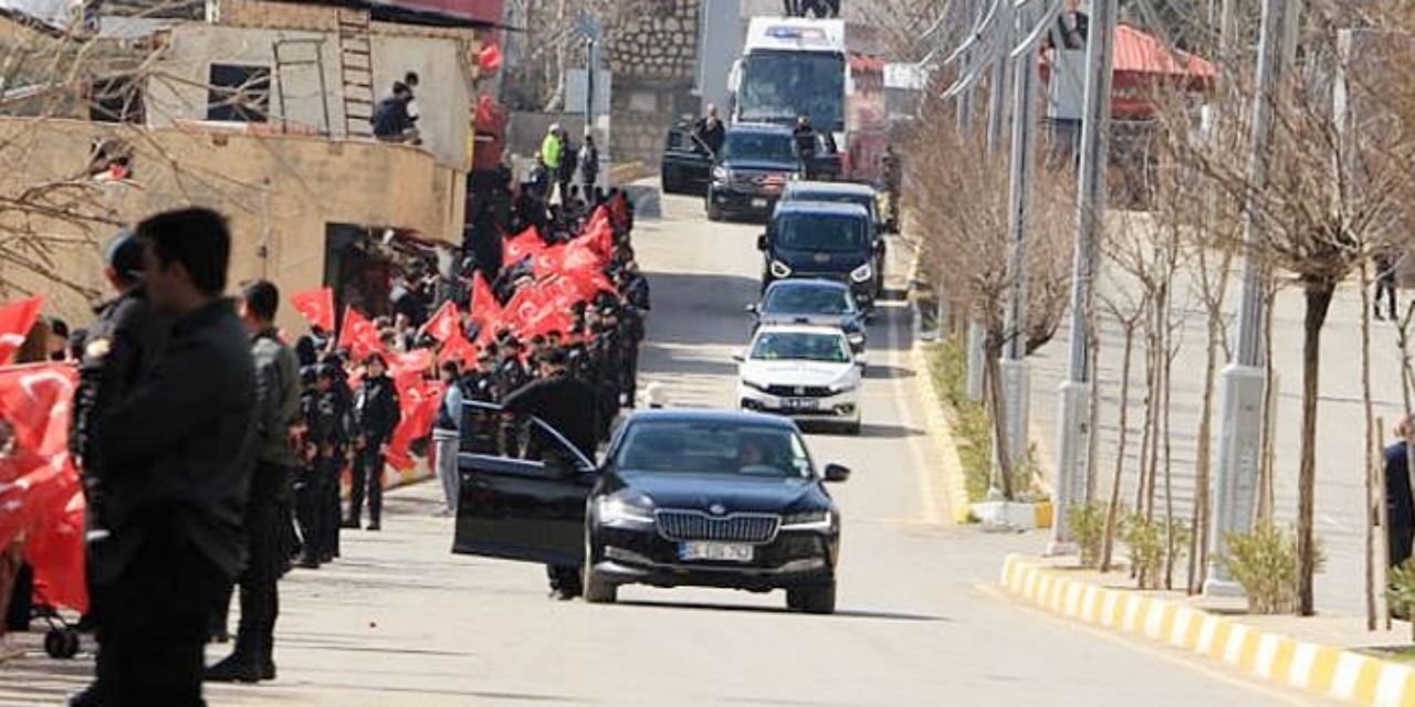
M811 478L811 457L790 428L750 423L633 423L616 455L627 472Z

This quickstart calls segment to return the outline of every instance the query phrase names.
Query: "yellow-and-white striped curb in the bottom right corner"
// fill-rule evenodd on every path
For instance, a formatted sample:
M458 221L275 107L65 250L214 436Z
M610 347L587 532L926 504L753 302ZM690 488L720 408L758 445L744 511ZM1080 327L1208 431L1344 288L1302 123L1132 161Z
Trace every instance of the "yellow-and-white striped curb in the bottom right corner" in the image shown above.
M1002 567L1002 587L1049 614L1169 643L1309 694L1371 707L1415 706L1411 666L1298 641L1177 601L1065 574L1010 554Z

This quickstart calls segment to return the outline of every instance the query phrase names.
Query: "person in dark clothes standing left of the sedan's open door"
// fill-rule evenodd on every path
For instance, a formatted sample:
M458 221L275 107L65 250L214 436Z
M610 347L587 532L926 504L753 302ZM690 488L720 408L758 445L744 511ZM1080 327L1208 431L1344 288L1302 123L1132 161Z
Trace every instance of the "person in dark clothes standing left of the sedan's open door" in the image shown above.
M383 467L388 443L402 421L398 389L388 378L388 362L381 354L368 358L368 372L354 396L354 419L358 424L358 458L354 462L354 486L350 489L350 516L344 527L358 527L368 495L368 529L379 530L383 516Z

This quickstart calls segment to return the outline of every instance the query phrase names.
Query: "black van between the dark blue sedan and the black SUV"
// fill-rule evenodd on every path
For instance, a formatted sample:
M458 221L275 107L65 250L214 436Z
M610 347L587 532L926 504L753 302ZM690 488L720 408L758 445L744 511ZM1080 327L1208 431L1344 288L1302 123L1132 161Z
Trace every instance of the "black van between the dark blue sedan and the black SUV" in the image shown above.
M799 277L835 280L850 286L862 310L873 310L880 294L876 270L882 245L865 206L781 202L757 239L764 257L761 287Z

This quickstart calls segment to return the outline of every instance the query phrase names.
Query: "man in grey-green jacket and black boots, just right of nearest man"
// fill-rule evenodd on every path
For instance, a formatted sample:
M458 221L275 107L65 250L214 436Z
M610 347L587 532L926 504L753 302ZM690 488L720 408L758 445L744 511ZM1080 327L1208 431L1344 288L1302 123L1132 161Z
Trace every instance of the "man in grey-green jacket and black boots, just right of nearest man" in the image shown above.
M275 680L277 581L289 568L291 481L300 467L291 443L300 424L300 365L276 332L279 307L280 290L273 283L256 280L242 288L241 320L250 334L256 365L256 468L245 513L248 560L241 574L241 628L235 650L207 669L211 682Z

